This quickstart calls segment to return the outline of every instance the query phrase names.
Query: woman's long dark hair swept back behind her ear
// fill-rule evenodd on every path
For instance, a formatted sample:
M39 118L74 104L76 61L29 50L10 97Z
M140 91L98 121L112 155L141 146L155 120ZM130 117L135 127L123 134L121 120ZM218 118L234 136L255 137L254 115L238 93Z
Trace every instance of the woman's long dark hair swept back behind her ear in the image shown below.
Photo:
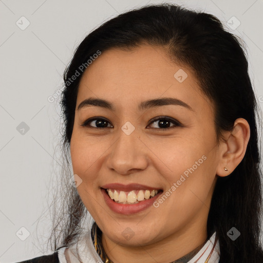
M257 117L261 123L260 108L249 78L245 45L240 37L224 29L214 15L171 4L147 5L110 19L85 37L64 72L61 106L66 165L70 165L69 146L79 82L84 69L88 70L92 63L90 57L96 58L94 54L109 48L126 50L142 43L165 47L175 63L193 69L202 92L214 102L218 142L221 132L231 131L237 118L248 121L250 140L245 157L231 175L218 177L207 229L209 236L214 230L217 232L220 262L263 262L262 171L256 122ZM72 186L72 174L65 171L66 168L60 199L63 207L60 211L54 209L49 239L54 249L77 242L87 215L77 189ZM227 235L232 227L240 232L235 241Z

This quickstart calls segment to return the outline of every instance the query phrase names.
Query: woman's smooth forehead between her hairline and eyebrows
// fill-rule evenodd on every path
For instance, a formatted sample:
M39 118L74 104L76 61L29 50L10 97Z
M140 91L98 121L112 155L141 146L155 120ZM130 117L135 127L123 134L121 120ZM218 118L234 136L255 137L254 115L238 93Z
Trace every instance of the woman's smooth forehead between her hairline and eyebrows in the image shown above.
M149 45L102 52L82 76L77 106L88 97L109 100L119 108L173 97L193 109L212 109L192 70L172 62L164 48Z

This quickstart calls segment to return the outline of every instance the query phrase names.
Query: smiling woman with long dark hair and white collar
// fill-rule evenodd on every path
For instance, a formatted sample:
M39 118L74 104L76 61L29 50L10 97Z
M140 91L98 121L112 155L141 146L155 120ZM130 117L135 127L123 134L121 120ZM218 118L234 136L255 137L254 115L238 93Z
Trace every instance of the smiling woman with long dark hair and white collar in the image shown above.
M76 187L68 174L55 252L27 262L263 262L257 103L240 43L215 16L170 4L86 36L62 93Z

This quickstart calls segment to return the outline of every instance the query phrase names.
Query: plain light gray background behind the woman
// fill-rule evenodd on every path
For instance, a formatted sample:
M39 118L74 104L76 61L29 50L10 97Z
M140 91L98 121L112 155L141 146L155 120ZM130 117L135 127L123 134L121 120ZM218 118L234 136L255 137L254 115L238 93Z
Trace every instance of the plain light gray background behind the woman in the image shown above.
M47 194L60 166L55 156L61 122L58 100L48 98L61 88L73 50L105 20L133 7L162 2L0 0L1 262L49 254L44 244L51 226ZM228 29L247 44L250 76L262 108L263 1L165 2L214 14L226 27L230 18L237 18L240 25ZM19 233L27 231L30 235L22 241Z

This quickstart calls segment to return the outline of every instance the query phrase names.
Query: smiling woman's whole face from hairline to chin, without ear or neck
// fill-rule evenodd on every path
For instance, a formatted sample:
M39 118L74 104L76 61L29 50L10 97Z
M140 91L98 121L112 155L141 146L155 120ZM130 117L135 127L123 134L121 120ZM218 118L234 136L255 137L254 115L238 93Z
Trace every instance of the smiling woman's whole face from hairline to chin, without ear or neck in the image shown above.
M91 98L106 102L82 103ZM89 65L70 152L78 193L105 238L124 246L193 231L206 238L219 163L213 105L162 47L110 49Z

